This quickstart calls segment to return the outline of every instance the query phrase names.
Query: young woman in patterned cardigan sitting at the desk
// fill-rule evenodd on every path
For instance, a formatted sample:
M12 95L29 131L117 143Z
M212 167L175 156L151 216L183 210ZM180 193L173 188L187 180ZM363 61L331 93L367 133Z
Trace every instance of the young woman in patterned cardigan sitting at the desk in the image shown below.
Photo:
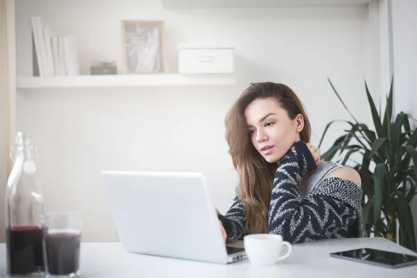
M290 243L363 237L356 170L320 161L300 99L284 84L250 85L225 120L239 187L219 215L224 239L279 234Z

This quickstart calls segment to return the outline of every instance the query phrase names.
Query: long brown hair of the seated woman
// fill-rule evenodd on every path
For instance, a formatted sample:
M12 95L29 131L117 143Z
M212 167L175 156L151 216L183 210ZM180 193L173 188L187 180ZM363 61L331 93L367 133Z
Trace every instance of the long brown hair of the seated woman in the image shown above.
M304 117L301 140L309 142L311 135L309 118L304 112L300 99L284 84L272 82L251 84L227 113L226 140L233 165L239 174L239 199L245 206L247 234L268 233L268 209L272 179L277 165L265 161L252 145L245 120L246 107L255 99L266 98L277 99L291 120L298 114Z

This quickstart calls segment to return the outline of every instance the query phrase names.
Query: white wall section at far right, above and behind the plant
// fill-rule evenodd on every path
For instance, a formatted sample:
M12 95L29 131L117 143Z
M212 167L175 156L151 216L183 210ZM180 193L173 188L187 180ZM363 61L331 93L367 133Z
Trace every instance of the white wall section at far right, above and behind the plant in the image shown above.
M392 3L393 72L395 79L395 113L408 113L417 119L417 1L395 0ZM417 122L410 124L417 127ZM417 197L411 204L417 240Z

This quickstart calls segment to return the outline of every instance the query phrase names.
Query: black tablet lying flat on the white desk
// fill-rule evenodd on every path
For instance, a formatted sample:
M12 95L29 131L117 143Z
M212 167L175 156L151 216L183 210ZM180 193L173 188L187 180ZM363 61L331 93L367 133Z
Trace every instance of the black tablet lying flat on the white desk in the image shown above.
M330 256L350 261L359 261L361 263L370 263L386 268L400 268L402 266L417 264L417 256L372 248L334 252Z

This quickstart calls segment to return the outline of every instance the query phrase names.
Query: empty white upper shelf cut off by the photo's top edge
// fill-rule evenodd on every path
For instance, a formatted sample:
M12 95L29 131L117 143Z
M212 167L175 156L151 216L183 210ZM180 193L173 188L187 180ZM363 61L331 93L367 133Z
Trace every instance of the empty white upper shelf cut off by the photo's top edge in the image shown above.
M357 6L373 0L161 0L165 9L279 6Z

